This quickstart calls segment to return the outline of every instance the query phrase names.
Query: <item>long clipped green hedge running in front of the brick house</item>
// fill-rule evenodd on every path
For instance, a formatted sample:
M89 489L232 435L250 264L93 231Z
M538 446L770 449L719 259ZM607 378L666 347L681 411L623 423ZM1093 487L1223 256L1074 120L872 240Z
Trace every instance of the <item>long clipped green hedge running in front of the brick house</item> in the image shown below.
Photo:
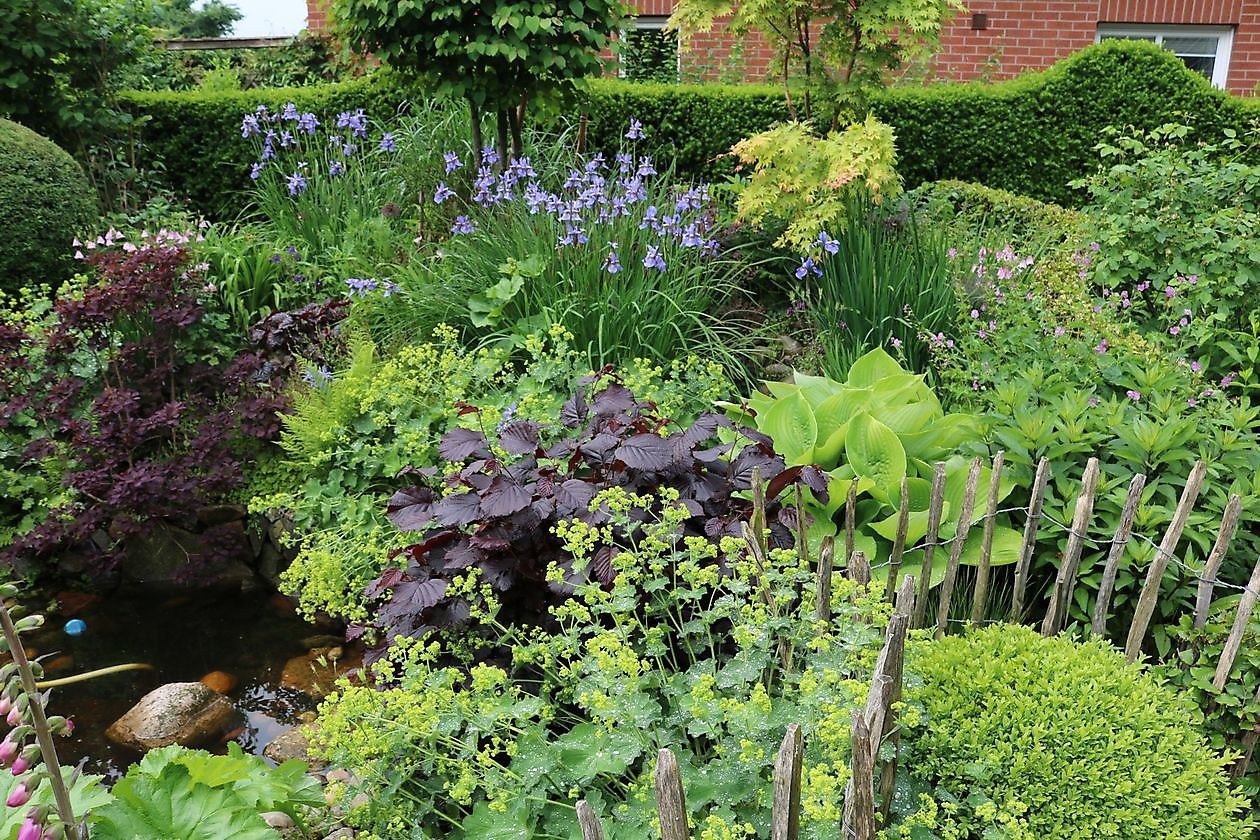
M377 73L340 84L229 93L129 93L129 108L149 117L147 161L164 161L170 185L215 215L239 208L249 149L241 115L258 102L316 113L364 107L383 118L406 108L418 86ZM958 179L1058 204L1080 203L1068 181L1097 162L1094 146L1109 125L1150 128L1178 121L1215 135L1260 120L1260 99L1230 96L1172 53L1145 42L1110 40L1048 71L995 84L929 84L879 92L874 113L897 133L907 186ZM721 178L724 152L742 137L788 117L782 91L769 86L634 84L597 79L570 112L588 117L592 149L616 150L630 118L648 130L641 150L678 171Z

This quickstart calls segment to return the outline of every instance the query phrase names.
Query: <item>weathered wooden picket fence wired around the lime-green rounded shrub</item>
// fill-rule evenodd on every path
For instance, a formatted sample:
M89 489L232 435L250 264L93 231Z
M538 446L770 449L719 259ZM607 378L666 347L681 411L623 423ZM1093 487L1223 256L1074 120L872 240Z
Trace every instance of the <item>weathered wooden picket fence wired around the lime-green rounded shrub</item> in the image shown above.
M945 501L945 465L936 463L931 499L927 515L927 534L922 543L907 548L906 534L908 530L908 505L901 505L896 538L887 567L887 592L893 597L895 583L898 578L900 568L907 550L922 550L924 560L920 569L920 578L916 583L912 576L905 576L900 589L893 597L893 615L888 620L885 633L883 649L876 661L874 673L871 679L871 691L867 695L864 709L853 712L853 729L850 735L852 756L848 787L844 793L844 822L840 829L840 837L845 840L874 840L878 826L887 821L888 811L892 806L892 791L896 778L897 742L900 729L896 722L895 704L901 699L902 691L902 665L905 661L906 633L911 628L929 627L927 602L931 583L932 565L940 549L949 548L945 559L945 579L940 584L937 594L937 610L931 626L935 636L942 637L951 623L950 607L953 604L954 589L958 584L958 572L961 564L963 548L974 524L983 523L980 543L980 559L975 569L974 588L971 593L970 621L965 625L980 625L989 597L990 557L993 547L994 523L999 513L997 499L998 487L1002 480L1003 453L993 458L992 476L989 481L988 508L983 516L975 518L975 499L979 490L979 479L983 461L975 458L970 463L966 486L964 489L963 504L959 510L959 525L955 535L949 540L940 539L941 513ZM1110 540L1108 558L1102 570L1099 587L1097 602L1090 622L1090 632L1104 636L1106 632L1106 617L1110 599L1115 591L1115 581L1124 557L1125 548L1133 539L1148 539L1152 545L1157 545L1157 553L1147 569L1142 592L1134 610L1133 620L1124 639L1125 659L1133 662L1142 652L1150 620L1154 616L1159 598L1159 587L1171 562L1178 562L1177 547L1184 535L1187 523L1193 513L1207 474L1206 465L1198 462L1191 470L1186 486L1182 489L1177 509L1172 523L1163 533L1158 544L1148 538L1135 535L1133 524L1137 519L1138 508L1142 499L1142 490L1145 487L1147 476L1135 475L1129 484L1129 492L1123 508L1120 521ZM1070 525L1056 523L1043 511L1046 486L1050 479L1050 462L1042 458L1037 465L1033 479L1032 492L1027 508L1018 509L1026 516L1023 542L1014 570L1014 588L1011 599L1011 617L1021 621L1027 612L1026 594L1028 577L1032 567L1033 553L1036 552L1037 535L1047 524L1056 525L1067 531L1068 539L1063 549L1063 555L1058 564L1053 589L1050 592L1050 604L1041 622L1041 632L1045 636L1057 635L1063 630L1067 621L1068 607L1072 603L1077 582L1081 553L1087 542L1090 518L1094 513L1094 501L1099 486L1099 460L1090 458L1081 477L1080 491L1076 497L1072 521ZM902 481L901 496L908 496L908 487ZM756 524L764 520L764 499L761 496L760 481L753 479L753 526L746 529L746 539L750 550L764 550L764 543L756 538L759 533ZM799 494L798 494L799 506ZM760 509L760 519L759 510ZM1194 599L1194 626L1202 628L1207 622L1211 611L1213 593L1217 586L1241 589L1241 598L1234 612L1234 622L1230 635L1226 639L1221 659L1217 662L1212 679L1212 686L1221 691L1228 680L1234 662L1242 649L1242 641L1247 631L1251 615L1260 601L1260 559L1251 572L1250 581L1245 587L1231 586L1216 579L1221 563L1228 552L1230 543L1239 525L1241 515L1241 500L1237 495L1230 497L1221 523L1216 529L1216 539L1208 553L1207 560L1201 570L1196 570L1198 586ZM974 520L974 521L973 521ZM862 552L854 549L856 534L856 487L850 486L849 496L845 500L844 515L844 545L843 558L847 576L854 582L866 586L871 582L873 569ZM801 535L804 539L804 535ZM820 620L830 618L830 592L833 574L833 547L827 543L822 547L818 558L818 582L815 612ZM1256 694L1260 701L1260 693ZM1231 773L1242 776L1247 772L1260 728L1254 729L1242 743L1242 757L1234 764ZM883 762L877 768L879 746L886 741L893 743L892 758ZM774 800L771 812L771 840L796 840L800 827L800 780L801 759L804 754L804 739L800 725L791 724L784 735L782 744L774 766ZM878 780L878 791L876 782ZM690 840L688 825L685 793L678 771L678 759L669 749L662 749L656 757L655 771L656 809L660 816L662 840ZM604 829L598 816L590 805L582 800L577 803L577 820L581 826L583 840L604 840Z

